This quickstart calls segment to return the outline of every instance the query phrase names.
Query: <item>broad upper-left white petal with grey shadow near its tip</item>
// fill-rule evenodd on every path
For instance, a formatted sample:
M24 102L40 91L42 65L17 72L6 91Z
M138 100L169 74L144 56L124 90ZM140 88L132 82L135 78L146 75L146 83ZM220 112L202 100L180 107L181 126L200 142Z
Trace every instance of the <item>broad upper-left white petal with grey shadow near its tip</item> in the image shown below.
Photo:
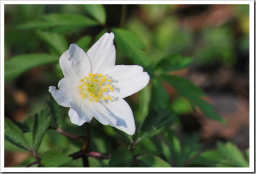
M65 77L78 81L92 70L87 54L74 43L62 54L59 64Z

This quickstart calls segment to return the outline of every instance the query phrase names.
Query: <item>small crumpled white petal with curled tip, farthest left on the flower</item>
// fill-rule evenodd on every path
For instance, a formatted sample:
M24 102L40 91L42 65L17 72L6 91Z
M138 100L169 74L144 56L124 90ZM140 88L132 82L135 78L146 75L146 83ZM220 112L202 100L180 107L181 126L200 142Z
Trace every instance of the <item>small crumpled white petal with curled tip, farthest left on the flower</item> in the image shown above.
M55 86L50 86L49 91L59 105L70 107L71 98L79 94L78 85L78 81L77 83L73 83L69 78L64 77L59 80L59 90Z

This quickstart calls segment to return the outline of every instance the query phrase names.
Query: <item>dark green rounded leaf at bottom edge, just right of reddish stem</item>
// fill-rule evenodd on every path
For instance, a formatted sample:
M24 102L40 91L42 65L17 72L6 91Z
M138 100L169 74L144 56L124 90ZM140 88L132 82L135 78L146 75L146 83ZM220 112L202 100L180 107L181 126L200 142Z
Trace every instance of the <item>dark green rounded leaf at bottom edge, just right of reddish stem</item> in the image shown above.
M120 164L130 164L133 160L132 153L126 148L119 148L111 156L109 160L109 165L118 166Z

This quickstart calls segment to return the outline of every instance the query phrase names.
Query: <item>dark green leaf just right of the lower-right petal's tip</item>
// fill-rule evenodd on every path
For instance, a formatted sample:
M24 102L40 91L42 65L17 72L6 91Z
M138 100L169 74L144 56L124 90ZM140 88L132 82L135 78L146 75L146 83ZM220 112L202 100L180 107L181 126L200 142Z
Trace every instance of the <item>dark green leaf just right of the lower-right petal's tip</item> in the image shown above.
M142 141L150 134L153 134L156 130L172 121L173 118L173 114L171 114L168 109L152 109L142 124L141 131L137 137L137 142Z

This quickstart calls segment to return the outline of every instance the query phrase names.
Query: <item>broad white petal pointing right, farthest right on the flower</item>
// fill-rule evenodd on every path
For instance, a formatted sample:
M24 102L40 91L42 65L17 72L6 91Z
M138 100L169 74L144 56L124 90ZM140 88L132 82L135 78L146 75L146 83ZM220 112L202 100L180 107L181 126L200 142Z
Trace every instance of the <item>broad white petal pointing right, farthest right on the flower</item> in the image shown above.
M114 95L125 98L142 90L149 83L149 75L138 65L116 65L108 71Z

